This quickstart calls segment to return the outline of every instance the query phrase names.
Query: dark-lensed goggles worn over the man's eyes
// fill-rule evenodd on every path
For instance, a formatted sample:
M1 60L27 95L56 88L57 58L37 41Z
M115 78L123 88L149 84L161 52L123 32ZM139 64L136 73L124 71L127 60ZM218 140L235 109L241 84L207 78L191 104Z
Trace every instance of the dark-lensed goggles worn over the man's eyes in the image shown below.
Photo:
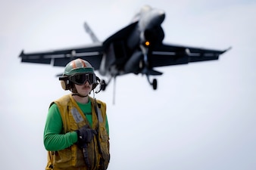
M76 74L69 77L69 80L76 85L84 85L89 82L90 85L96 82L96 76L94 73Z

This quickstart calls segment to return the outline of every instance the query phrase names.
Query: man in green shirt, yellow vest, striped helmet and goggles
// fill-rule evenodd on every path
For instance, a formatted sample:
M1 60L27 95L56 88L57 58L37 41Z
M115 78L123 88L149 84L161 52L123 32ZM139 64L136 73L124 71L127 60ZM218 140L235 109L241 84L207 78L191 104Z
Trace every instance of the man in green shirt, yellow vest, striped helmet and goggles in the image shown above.
M94 97L100 84L92 65L82 59L67 63L61 87L70 94L50 104L45 122L46 170L107 169L110 160L106 104ZM89 96L93 92L93 97Z

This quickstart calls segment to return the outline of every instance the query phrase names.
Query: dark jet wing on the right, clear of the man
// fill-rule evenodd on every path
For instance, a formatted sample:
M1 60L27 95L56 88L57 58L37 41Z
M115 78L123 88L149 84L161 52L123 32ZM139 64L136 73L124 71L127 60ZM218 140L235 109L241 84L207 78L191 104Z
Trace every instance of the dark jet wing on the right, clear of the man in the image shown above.
M218 60L219 55L230 48L219 51L206 48L192 48L179 45L161 45L148 55L150 66L170 66L205 60Z

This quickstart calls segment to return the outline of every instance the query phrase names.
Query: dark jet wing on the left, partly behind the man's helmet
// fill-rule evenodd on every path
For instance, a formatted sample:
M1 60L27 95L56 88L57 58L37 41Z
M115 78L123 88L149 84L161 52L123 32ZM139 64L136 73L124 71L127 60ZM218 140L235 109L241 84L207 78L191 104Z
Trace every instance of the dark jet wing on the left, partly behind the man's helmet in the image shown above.
M69 48L56 51L45 51L36 53L24 53L21 51L21 62L26 63L45 63L53 66L66 66L70 60L82 58L88 60L95 70L99 69L104 47L101 43L83 48Z

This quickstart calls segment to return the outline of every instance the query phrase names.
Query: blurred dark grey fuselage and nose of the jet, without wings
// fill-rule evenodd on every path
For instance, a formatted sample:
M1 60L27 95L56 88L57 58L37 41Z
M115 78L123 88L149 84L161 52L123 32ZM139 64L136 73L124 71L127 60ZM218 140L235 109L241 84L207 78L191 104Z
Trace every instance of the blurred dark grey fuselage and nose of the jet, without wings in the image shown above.
M148 6L142 8L136 15L136 20L131 23L131 29L122 29L109 38L114 41L107 46L99 73L102 76L139 73L146 65L148 48L161 44L164 39L164 31L161 28L164 17L162 10ZM126 34L129 34L127 39L119 39L120 35ZM145 42L149 42L149 45L145 45Z

